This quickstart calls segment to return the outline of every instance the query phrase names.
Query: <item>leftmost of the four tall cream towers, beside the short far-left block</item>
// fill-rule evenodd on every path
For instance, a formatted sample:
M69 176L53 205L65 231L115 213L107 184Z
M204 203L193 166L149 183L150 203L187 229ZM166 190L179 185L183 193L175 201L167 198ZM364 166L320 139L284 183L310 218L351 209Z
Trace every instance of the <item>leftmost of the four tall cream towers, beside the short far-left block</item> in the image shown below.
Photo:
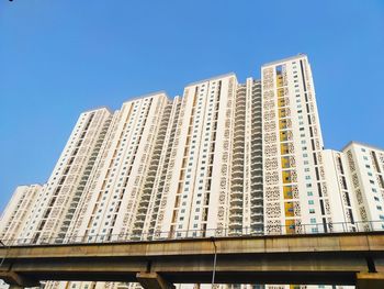
M106 109L81 113L19 237L32 243L65 237L103 143L110 114Z

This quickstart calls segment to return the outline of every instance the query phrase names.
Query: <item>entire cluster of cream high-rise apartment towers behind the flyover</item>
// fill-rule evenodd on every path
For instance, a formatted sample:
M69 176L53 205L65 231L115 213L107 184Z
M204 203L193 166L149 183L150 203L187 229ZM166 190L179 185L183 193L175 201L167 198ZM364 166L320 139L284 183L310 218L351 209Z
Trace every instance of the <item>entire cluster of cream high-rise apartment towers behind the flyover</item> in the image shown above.
M323 146L305 55L263 65L261 80L228 74L173 100L143 96L82 113L48 181L16 190L0 232L22 243L109 242L354 231L383 220L383 151Z

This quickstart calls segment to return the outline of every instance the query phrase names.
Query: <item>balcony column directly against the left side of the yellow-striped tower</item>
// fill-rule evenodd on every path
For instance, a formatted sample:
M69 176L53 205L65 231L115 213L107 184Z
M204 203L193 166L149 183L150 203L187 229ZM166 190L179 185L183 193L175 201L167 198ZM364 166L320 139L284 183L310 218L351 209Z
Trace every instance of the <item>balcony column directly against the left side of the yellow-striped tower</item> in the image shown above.
M263 231L261 82L253 81L251 90L251 163L250 163L250 229Z

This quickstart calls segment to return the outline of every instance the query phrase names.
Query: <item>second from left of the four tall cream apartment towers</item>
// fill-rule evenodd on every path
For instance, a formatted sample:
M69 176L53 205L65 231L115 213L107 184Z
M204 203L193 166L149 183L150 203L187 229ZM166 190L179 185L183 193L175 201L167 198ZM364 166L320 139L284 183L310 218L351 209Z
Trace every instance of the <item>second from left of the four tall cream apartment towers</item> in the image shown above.
M80 199L86 205L76 211L67 237L110 241L132 234L170 104L161 92L125 102L114 113L89 188Z

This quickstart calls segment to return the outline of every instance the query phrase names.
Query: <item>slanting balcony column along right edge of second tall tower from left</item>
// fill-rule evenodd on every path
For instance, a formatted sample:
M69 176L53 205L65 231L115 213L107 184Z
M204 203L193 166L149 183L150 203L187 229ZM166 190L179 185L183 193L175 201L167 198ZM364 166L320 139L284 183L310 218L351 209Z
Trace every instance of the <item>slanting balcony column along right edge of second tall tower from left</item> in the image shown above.
M154 188L156 187L156 184L159 180L159 175L161 174L159 164L161 155L163 153L163 143L167 134L171 109L172 103L169 102L161 116L161 124L157 134L151 162L148 168L147 177L143 188L143 193L139 200L134 229L132 231L134 240L147 240L151 238L153 236L149 232L147 232L145 223L146 219L151 218L150 211L156 204L157 196L155 193Z

